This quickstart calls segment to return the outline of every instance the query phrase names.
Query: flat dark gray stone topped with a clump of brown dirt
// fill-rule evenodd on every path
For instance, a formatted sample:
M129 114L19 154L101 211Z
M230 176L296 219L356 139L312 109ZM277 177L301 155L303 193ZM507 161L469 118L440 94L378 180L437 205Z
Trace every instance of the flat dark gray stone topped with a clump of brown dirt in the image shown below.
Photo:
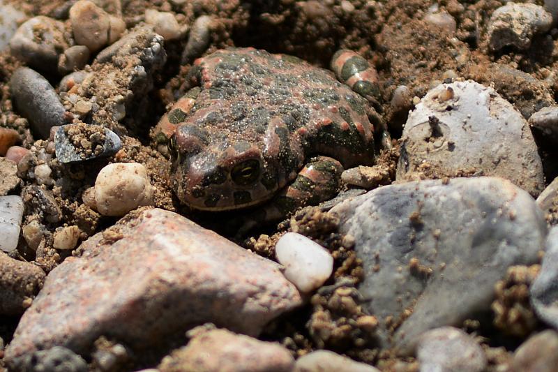
M54 147L60 163L80 163L113 156L121 149L122 142L120 137L108 128L68 124L56 130Z

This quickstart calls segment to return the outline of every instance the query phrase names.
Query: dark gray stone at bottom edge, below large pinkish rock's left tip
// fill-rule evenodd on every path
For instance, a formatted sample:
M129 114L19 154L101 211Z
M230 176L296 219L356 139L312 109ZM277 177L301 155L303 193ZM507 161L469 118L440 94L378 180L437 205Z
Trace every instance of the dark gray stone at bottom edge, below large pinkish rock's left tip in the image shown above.
M36 372L86 372L87 362L72 350L54 346L22 357L21 371Z

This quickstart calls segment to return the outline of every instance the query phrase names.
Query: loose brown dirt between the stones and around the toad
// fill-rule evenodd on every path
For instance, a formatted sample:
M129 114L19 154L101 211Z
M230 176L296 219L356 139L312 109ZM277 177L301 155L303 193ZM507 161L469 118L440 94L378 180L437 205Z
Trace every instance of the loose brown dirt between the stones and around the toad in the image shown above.
M68 9L75 1L11 2L29 16L48 15L68 23ZM98 0L96 3L107 12L123 17L128 28L140 24L144 10L148 8L174 13L181 27L187 29L200 15L211 15L215 22L204 55L227 46L250 46L273 53L293 54L315 66L328 68L337 50L354 50L368 59L379 73L382 98L379 112L384 115L389 128L401 128L413 103L418 102L430 88L458 77L492 84L525 117L538 108L554 104L558 93L558 79L552 72L558 68L557 29L550 32L551 38L535 38L530 49L525 52L513 49L498 54L488 52L485 33L487 22L492 12L506 1ZM439 5L439 10L453 16L457 25L455 34L448 35L436 25L425 22L425 15L435 4ZM52 233L56 228L77 225L91 236L116 222L115 218L100 216L83 202L83 195L93 186L98 171L112 162L146 165L155 189L156 207L179 212L209 228L225 232L234 230L232 218L242 216L242 213L207 215L195 213L179 204L169 181L168 153L155 138L150 137L151 127L157 124L186 86L190 65L180 66L180 60L187 40L182 38L165 43L167 64L153 77L153 88L141 97L144 100L142 102L149 103L149 110L142 112L142 123L130 119L125 128L120 128L122 149L109 159L73 165L57 163L52 158L52 142L34 138L27 119L14 112L7 82L13 71L22 64L8 51L0 53L0 126L15 129L20 135L17 144L31 150L31 154L18 167L22 184L15 186L17 192L24 191L26 194L27 190L23 226L31 221L40 221L45 228L44 237L36 251L26 246L24 241L20 244L20 259L35 260L48 272L66 257L52 248ZM107 73L100 67L89 70L98 74L99 80ZM58 87L61 77L47 78L54 87ZM121 78L125 79L125 76ZM398 110L391 105L391 97L400 85L409 88L411 101ZM105 89L105 97L126 97L126 90L119 85L94 88ZM95 93L99 94L98 91ZM558 150L545 142L541 135L534 134L543 158L545 175L551 181L558 175ZM359 177L363 180L363 184L357 184L360 187L375 188L395 180L400 131L393 130L391 135L394 139L393 149L384 151L374 168L359 170ZM71 133L71 137L76 147L83 150L84 156L100 151L96 144L104 140L93 136L85 128ZM50 165L53 179L63 181L46 187L37 186L30 170L41 162ZM421 170L421 179L469 177L476 173L474 169L465 169L455 174L438 174L428 163L423 163ZM352 187L346 186L345 189ZM50 206L45 207L46 204ZM45 210L51 214L45 214ZM557 216L557 209L553 209L548 221L555 223L558 221ZM316 348L328 348L373 363L382 371L417 371L418 366L413 359L401 359L390 352L379 352L374 348L374 340L367 336L375 327L375 318L363 313L359 306L361 299L356 292L356 285L362 280L361 262L352 250L354 239L338 234L337 225L338 221L324 209L310 207L299 211L280 224L279 228L276 225L265 227L253 231L248 237L237 239L255 253L273 258L273 246L284 232L300 232L326 246L335 259L335 274L310 299L309 304L269 325L264 338L283 343L296 356ZM111 235L110 230L106 231L107 239L115 239L114 233ZM233 235L227 236L234 239ZM428 267L423 267L421 262L411 260L409 269L416 271L417 275L428 276ZM536 269L533 267L513 268L497 287L497 299L493 305L497 330L492 329L492 333L488 332L488 338L483 338L490 370L496 371L501 367L505 371L513 350L502 348L498 337L490 341L494 332L525 337L536 328L532 309L525 297L534 271ZM0 336L4 341L10 340L16 321L10 320L6 325L0 325ZM467 325L464 327L467 328ZM103 348L109 347L103 345Z

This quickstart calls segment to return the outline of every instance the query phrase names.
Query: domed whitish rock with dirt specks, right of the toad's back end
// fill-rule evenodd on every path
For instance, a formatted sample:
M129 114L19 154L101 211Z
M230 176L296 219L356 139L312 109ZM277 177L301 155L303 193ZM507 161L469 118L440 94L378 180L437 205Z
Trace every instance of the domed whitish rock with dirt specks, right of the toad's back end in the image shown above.
M497 176L538 195L543 165L527 121L492 88L441 84L411 112L396 179Z

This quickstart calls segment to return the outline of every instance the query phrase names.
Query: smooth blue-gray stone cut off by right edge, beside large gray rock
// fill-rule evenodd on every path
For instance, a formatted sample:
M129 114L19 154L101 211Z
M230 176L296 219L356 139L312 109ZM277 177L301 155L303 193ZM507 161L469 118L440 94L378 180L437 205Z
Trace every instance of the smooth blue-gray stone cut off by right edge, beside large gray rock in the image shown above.
M541 274L531 285L531 304L538 318L558 329L558 227L546 238Z

